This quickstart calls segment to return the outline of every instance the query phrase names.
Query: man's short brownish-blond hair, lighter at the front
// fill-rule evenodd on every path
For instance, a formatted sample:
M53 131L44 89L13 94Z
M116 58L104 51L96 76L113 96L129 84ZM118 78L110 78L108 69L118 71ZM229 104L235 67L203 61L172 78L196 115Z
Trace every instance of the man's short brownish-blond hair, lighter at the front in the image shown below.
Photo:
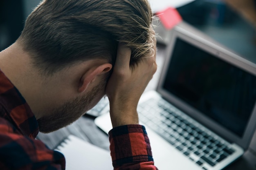
M134 61L152 54L152 17L148 0L43 0L18 41L47 74L81 60L114 63L119 42Z

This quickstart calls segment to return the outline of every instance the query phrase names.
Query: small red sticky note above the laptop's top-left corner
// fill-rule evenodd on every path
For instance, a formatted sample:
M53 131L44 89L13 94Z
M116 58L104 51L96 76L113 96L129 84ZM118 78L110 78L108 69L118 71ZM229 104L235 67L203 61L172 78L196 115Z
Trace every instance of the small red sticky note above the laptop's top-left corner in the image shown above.
M182 21L180 13L172 7L159 11L156 14L166 29L172 29L175 25Z

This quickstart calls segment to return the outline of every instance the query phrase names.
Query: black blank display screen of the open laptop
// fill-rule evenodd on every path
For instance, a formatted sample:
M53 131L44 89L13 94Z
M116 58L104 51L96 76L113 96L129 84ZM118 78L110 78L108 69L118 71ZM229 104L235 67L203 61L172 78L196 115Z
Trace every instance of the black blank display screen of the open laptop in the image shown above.
M164 89L242 137L256 100L256 77L177 39Z

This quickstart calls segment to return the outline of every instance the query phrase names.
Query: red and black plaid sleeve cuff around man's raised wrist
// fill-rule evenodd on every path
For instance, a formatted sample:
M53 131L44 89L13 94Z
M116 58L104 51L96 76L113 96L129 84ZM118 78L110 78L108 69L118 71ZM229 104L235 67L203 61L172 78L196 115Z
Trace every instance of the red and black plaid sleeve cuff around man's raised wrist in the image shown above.
M146 129L125 125L109 132L110 153L114 170L158 170L154 166Z

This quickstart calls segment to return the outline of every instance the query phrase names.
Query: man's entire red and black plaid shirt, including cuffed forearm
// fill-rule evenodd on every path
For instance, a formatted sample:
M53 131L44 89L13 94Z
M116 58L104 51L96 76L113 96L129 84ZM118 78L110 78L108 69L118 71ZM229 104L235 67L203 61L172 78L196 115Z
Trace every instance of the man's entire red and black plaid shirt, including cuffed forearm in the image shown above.
M0 71L0 170L65 169L63 154L36 140L37 134L36 117ZM115 170L157 170L143 126L120 126L109 135Z

